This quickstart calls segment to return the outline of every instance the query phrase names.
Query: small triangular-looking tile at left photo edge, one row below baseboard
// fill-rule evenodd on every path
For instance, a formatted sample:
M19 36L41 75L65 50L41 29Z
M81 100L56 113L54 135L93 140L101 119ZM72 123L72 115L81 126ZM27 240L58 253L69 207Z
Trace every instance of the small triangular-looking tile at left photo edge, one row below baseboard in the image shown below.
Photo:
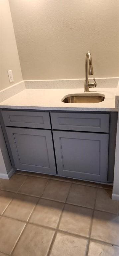
M0 214L2 214L13 197L14 193L0 190Z

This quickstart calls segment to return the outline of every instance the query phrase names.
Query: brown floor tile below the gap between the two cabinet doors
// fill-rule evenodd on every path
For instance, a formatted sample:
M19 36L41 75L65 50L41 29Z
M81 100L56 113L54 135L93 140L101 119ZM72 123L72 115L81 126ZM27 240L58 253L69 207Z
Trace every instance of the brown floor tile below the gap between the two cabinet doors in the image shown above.
M68 182L50 180L42 197L65 202L70 186Z

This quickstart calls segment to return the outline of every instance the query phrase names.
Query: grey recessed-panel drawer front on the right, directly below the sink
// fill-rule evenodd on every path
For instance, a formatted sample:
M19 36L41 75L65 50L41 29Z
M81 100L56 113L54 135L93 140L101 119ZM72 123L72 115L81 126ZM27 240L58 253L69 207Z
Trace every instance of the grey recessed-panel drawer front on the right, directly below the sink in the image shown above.
M52 128L88 132L109 132L109 114L51 113Z

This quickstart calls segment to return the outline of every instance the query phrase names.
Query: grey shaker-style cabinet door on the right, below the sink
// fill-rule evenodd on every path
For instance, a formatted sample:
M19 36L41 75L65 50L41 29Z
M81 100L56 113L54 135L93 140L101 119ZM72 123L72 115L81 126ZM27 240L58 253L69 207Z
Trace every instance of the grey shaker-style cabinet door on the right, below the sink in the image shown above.
M108 134L53 131L58 174L107 182Z

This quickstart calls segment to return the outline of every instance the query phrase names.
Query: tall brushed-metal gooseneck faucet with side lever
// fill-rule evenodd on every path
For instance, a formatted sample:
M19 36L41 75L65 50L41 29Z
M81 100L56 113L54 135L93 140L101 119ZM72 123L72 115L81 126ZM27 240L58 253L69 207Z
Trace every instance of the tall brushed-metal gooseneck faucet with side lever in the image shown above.
M88 68L88 62L89 62L89 68ZM92 57L90 52L86 53L86 58L85 58L85 85L84 85L84 92L89 92L89 88L96 87L97 83L94 80L94 83L89 83L88 81L88 74L93 75L93 67L92 67Z

